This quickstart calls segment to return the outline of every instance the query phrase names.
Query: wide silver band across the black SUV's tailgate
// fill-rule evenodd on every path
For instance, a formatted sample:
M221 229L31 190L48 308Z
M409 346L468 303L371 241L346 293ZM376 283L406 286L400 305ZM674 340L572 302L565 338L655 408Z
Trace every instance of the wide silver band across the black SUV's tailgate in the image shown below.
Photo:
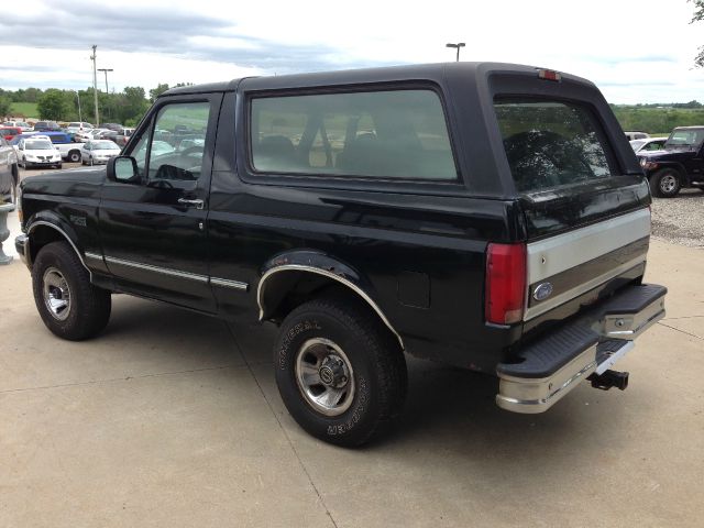
M650 211L638 211L528 244L528 284L536 284L650 235ZM641 258L645 261L645 256Z

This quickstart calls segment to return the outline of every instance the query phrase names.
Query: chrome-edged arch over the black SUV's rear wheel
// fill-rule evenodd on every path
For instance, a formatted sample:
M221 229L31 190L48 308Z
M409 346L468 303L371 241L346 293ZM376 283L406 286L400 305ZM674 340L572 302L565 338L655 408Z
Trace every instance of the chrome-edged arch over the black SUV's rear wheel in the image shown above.
M266 287L271 278L279 273L301 272L321 275L336 280L354 292L378 316L384 326L396 337L402 349L404 341L393 327L384 311L374 299L373 287L354 267L322 252L310 250L290 251L270 260L262 267L262 278L256 287L256 302L260 308L260 320L264 320L271 310L266 306Z

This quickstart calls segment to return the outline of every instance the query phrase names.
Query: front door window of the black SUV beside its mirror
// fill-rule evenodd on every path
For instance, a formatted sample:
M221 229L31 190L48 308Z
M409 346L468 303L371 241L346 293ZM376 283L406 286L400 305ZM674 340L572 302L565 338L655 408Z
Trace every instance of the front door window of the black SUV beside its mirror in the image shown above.
M209 118L209 102L164 106L132 148L140 176L150 182L198 179Z

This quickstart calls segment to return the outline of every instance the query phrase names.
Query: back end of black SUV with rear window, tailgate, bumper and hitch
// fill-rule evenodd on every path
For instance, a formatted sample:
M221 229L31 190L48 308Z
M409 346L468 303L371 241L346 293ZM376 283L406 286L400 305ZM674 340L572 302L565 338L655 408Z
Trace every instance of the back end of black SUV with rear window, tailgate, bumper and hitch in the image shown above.
M587 81L529 77L493 86L525 220L522 337L497 366L497 404L517 413L546 410L586 376L625 388L627 373L605 373L663 317L667 293L641 284L650 194L610 109Z

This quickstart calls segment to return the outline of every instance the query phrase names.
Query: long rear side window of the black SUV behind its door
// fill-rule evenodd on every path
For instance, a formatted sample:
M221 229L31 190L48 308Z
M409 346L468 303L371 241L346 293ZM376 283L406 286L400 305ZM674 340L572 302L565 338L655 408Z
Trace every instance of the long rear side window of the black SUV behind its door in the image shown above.
M260 173L458 178L432 90L255 98L250 131L252 165Z

